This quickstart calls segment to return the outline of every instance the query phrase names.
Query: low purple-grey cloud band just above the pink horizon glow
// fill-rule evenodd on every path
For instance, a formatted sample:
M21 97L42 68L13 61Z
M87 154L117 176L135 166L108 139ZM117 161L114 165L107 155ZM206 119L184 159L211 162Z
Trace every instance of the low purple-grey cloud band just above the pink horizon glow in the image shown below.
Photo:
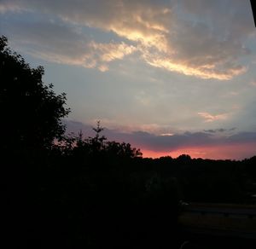
M84 125L79 122L65 121L67 130L79 132L84 131L85 136L93 136L91 125ZM121 132L120 130L105 129L102 134L108 140L117 142L130 142L132 146L152 150L155 152L172 152L180 148L198 148L211 146L224 146L232 144L256 143L256 132L240 132L231 136L214 136L216 132L224 132L231 129L207 130L204 132L184 132L172 136L159 136L146 131L134 131L131 133Z

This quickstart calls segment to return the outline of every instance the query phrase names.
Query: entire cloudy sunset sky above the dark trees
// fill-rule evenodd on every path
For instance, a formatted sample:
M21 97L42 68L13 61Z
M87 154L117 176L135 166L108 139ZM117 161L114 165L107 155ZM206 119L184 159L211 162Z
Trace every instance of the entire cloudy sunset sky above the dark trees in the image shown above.
M101 120L144 157L256 155L249 0L0 0L0 35L67 93L67 132Z

